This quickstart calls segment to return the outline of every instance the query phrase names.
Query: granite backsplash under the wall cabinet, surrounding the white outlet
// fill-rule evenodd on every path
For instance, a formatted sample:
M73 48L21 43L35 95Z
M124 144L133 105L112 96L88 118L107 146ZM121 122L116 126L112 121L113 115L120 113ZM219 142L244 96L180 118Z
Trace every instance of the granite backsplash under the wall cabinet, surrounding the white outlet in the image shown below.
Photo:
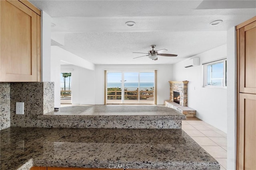
M16 115L16 102L24 102L24 115ZM54 111L54 82L0 82L1 129L36 127L37 115Z

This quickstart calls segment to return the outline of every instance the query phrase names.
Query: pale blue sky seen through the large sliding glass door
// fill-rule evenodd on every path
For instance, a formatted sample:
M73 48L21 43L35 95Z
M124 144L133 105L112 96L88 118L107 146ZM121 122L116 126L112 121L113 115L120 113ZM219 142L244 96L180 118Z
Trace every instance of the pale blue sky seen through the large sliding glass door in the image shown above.
M108 83L119 83L122 80L121 72L108 72L107 76ZM138 82L138 72L124 72L124 80L126 82ZM140 82L154 82L154 72L140 72Z

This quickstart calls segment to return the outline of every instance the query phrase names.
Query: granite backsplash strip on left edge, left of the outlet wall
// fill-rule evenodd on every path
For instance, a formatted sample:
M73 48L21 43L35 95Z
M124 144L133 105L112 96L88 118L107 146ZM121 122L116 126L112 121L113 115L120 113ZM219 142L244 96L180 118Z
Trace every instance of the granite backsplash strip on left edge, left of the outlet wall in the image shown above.
M10 127L10 83L0 82L0 130Z

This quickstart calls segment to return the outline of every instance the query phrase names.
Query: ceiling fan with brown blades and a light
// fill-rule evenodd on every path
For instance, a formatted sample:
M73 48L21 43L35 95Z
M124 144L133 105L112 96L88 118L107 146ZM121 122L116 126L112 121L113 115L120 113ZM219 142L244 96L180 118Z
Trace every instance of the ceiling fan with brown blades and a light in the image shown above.
M148 56L148 58L150 58L152 60L158 60L158 56L163 56L163 57L176 57L176 56L178 56L178 55L175 55L175 54L163 54L163 52L167 51L167 49L154 50L156 45L151 45L150 47L152 48L152 50L148 51L148 53L141 53L141 54L147 54L147 55L142 55L140 57ZM138 53L138 52L132 52L132 53ZM133 59L140 58L140 57L135 57Z

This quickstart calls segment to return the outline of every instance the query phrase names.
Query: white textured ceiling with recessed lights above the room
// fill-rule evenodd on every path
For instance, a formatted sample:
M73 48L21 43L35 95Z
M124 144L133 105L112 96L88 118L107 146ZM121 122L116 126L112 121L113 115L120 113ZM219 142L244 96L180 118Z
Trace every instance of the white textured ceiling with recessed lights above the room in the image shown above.
M94 64L167 64L226 43L226 30L256 15L246 0L30 0L52 16L62 48ZM223 20L212 26L214 20ZM136 25L127 27L126 21ZM56 39L54 39L56 41ZM132 54L150 45L178 57Z

